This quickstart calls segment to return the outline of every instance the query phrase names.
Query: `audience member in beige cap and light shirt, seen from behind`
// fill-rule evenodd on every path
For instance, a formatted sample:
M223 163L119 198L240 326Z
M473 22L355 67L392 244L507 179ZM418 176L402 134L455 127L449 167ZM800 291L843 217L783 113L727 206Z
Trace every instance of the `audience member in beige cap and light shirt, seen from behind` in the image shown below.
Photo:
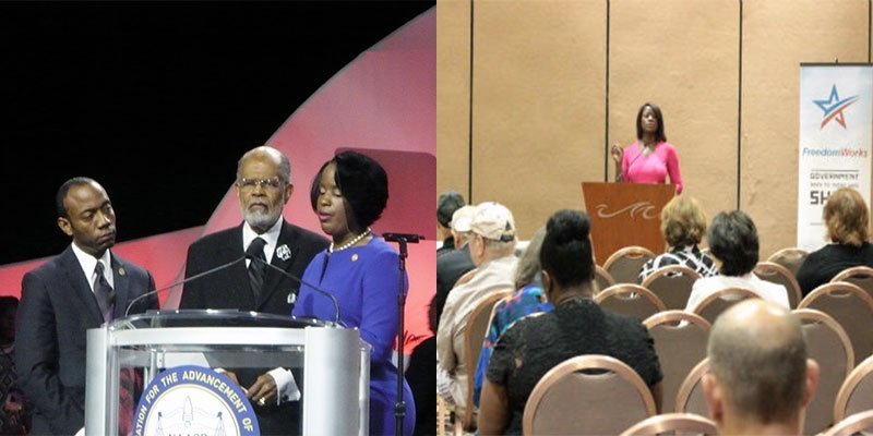
M438 390L447 390L446 401L458 409L467 407L467 377L476 370L467 367L465 362L464 332L467 318L479 299L513 287L513 272L518 262L514 255L515 220L505 206L498 203L479 204L470 229L474 237L469 241L469 249L476 274L449 294L436 329Z

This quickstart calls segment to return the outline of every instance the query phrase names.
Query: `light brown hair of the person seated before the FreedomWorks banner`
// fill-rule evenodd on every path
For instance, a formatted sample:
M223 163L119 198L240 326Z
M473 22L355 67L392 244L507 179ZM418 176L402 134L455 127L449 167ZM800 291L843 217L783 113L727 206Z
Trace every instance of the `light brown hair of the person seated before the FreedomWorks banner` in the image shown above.
M861 246L870 237L866 203L851 187L834 191L827 198L822 217L827 225L827 238L836 243Z

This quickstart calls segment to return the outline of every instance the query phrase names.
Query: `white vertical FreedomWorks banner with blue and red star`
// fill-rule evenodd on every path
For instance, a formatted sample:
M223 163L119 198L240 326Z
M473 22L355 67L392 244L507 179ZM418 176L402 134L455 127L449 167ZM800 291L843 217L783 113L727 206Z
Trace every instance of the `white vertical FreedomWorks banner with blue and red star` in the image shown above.
M873 65L800 65L798 246L829 242L822 209L849 186L870 204Z

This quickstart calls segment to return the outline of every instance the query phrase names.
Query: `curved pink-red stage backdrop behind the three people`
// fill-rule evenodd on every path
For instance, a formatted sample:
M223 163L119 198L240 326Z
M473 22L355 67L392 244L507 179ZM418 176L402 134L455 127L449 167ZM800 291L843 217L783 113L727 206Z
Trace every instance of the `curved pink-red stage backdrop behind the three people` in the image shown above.
M285 217L320 232L309 206L309 185L337 149L357 149L383 164L390 199L373 231L418 233L409 244L406 351L430 336L427 304L435 292L436 12L431 9L361 53L313 94L267 142L291 159L295 194ZM294 77L288 77L289 81ZM222 153L222 150L215 150ZM235 168L227 168L232 173ZM203 227L118 244L121 256L145 266L158 287L183 276L188 246L203 234L242 220L231 186ZM24 274L45 259L0 267L0 290L20 295ZM162 294L175 308L179 290ZM387 307L386 307L387 310Z

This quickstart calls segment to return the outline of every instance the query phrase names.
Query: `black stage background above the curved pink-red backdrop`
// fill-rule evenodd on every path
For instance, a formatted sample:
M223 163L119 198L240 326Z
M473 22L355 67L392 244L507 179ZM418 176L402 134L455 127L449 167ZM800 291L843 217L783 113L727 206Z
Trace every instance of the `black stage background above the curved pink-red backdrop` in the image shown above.
M0 264L69 244L74 175L108 191L118 242L204 225L242 153L434 3L0 3Z

